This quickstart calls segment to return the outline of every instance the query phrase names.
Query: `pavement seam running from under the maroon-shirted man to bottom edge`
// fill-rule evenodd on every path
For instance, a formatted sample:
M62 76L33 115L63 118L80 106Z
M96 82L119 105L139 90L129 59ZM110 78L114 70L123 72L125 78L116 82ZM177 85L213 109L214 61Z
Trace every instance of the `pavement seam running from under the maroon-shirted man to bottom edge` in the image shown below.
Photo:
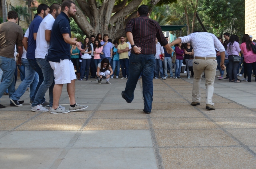
M142 98L143 98L143 88L142 88L142 83L140 83L140 90L142 93ZM144 98L143 98L143 102L144 102ZM156 134L154 132L154 129L152 127L152 121L151 121L151 117L150 114L146 114L147 120L148 120L148 125L149 125L149 132L150 132L150 136L151 136L151 141L152 141L152 145L153 145L153 149L154 149L154 155L156 158L156 165L158 169L164 169L164 163L163 163L163 159L162 159L162 155L159 151L159 146L158 146L158 142L156 139Z

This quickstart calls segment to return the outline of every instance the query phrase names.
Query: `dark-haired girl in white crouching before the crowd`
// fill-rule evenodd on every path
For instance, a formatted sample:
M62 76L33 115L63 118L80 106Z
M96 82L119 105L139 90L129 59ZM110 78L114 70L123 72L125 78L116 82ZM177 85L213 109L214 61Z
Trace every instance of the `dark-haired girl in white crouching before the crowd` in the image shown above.
M102 76L106 77L106 84L111 84L109 82L109 78L111 75L113 75L113 70L107 58L103 59L101 63L98 64L96 75L99 77L98 84L101 84L100 81L102 80Z

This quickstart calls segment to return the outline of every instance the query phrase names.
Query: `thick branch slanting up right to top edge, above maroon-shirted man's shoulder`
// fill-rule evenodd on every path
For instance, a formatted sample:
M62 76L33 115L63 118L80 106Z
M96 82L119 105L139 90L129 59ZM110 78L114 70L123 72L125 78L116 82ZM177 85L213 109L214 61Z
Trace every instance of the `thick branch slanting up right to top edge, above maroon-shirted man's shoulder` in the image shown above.
M122 10L120 10L118 13L114 14L110 19L110 24L113 25L118 21L118 18L124 18L128 14L130 14L132 11L136 10L142 0L132 0L127 6L125 6Z

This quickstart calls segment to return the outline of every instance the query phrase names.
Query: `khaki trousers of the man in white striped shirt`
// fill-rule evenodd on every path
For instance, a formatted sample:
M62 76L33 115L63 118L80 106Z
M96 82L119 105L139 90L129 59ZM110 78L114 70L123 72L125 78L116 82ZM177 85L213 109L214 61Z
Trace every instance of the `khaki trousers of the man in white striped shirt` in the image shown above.
M194 81L193 81L193 91L192 91L192 101L200 102L201 92L200 83L202 78L202 73L205 74L205 86L206 86L206 104L214 105L212 102L212 96L214 91L214 79L216 76L217 61L215 59L194 59L193 61L193 71L194 71Z

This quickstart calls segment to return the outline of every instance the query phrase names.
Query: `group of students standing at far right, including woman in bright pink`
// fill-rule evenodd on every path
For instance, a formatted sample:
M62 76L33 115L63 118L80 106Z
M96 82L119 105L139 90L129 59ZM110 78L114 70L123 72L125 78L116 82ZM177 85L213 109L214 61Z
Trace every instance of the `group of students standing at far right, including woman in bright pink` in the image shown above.
M241 81L251 82L252 70L256 73L256 51L253 47L256 45L252 41L252 35L245 34L242 37L242 43L239 45L238 35L231 35L226 32L224 33L224 38L226 39L222 43L222 38L219 38L220 42L225 48L225 66L227 75L223 78L224 71L220 70L220 75L217 77L219 80L229 79L229 82L240 83ZM220 67L220 55L217 51L216 58L218 61L218 67ZM240 57L241 61L234 61L234 57ZM240 73L240 67L242 67ZM244 77L238 79L238 77Z

